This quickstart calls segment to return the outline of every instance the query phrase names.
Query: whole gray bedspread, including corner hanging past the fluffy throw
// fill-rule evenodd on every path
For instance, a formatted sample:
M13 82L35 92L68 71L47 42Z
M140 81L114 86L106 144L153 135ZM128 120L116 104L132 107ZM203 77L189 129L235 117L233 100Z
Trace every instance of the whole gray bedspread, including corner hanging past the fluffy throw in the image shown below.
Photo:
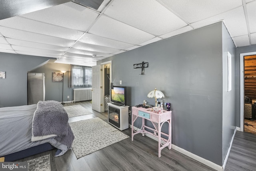
M58 102L58 104L60 103ZM62 105L61 107L63 108ZM70 149L72 144L70 140L73 141L74 135L69 125L66 125L65 133L60 133L62 135L56 134L54 137L31 141L33 137L32 121L37 108L38 105L36 104L0 108L0 156L15 153L43 143L50 143L57 149L60 149L61 151L56 156L63 155Z

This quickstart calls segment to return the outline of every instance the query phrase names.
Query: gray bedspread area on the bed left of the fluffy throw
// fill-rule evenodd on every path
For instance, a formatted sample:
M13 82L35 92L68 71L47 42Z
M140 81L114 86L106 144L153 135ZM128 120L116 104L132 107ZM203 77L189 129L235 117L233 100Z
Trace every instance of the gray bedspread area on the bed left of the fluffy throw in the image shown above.
M0 156L48 142L31 141L36 104L0 108Z

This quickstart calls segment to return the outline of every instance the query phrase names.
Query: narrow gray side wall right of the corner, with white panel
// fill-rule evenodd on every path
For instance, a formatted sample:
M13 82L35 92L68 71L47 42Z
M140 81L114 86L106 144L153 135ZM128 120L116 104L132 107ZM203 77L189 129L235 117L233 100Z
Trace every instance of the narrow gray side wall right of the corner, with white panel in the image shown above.
M227 52L232 55L232 90L228 89L228 58ZM222 68L223 68L223 91L222 91L222 161L228 152L230 141L236 128L236 48L222 23ZM239 80L239 79L238 79Z

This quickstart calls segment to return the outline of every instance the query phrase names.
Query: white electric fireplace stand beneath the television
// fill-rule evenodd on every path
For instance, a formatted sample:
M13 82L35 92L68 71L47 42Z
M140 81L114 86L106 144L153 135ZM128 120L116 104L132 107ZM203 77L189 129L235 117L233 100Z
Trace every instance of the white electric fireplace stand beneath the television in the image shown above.
M108 103L108 123L121 131L129 128L128 109L130 106Z

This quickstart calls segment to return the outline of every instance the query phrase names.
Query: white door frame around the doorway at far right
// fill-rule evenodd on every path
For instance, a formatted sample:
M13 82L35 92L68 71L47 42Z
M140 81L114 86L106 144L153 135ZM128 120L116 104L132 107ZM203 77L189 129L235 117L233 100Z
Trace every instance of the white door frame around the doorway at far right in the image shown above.
M240 131L244 132L244 56L256 55L256 52L240 54Z

